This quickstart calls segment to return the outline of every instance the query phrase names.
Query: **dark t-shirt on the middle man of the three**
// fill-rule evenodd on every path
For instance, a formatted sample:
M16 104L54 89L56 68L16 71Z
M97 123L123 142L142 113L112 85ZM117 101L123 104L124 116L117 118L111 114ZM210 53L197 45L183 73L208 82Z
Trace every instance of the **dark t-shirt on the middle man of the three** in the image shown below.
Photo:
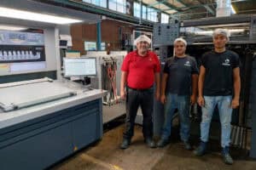
M191 76L198 74L197 63L193 57L172 57L166 61L164 73L168 74L166 92L178 95L191 94Z

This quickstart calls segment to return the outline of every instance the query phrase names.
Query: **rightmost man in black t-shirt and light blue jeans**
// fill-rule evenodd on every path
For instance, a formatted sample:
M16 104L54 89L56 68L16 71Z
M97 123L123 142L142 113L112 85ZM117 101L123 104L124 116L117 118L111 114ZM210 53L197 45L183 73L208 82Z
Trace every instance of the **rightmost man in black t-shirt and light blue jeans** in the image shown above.
M232 109L239 105L240 96L240 70L239 56L226 50L225 44L229 40L229 32L217 29L213 32L214 51L202 56L198 82L198 105L201 106L201 144L195 150L195 156L206 153L209 127L212 113L218 106L221 122L221 146L226 164L232 164L230 156L230 132ZM233 94L234 91L234 94ZM232 99L232 96L233 99Z

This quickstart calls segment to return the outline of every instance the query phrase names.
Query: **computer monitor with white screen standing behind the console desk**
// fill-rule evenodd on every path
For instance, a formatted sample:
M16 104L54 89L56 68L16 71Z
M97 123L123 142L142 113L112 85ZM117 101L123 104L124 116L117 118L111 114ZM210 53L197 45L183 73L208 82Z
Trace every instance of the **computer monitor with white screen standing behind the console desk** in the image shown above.
M64 58L64 77L96 76L96 58Z

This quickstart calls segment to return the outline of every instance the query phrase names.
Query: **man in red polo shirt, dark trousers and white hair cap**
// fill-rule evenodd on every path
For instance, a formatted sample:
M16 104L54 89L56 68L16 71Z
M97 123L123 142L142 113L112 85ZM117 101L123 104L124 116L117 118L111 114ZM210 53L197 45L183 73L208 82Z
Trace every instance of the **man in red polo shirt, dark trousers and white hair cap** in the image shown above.
M134 122L138 107L143 111L143 137L150 148L154 148L152 112L155 97L160 98L160 61L156 54L149 51L150 38L145 35L137 37L134 44L137 50L125 56L121 71L120 95L126 97L126 128L121 149L131 144ZM126 86L126 93L125 93Z

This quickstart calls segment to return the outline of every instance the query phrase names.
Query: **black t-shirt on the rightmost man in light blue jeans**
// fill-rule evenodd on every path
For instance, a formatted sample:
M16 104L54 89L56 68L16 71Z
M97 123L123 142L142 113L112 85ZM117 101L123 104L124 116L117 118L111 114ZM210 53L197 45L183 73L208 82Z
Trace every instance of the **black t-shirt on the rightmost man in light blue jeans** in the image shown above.
M233 69L239 66L239 56L233 51L203 54L201 65L206 68L203 94L225 96L233 94Z

